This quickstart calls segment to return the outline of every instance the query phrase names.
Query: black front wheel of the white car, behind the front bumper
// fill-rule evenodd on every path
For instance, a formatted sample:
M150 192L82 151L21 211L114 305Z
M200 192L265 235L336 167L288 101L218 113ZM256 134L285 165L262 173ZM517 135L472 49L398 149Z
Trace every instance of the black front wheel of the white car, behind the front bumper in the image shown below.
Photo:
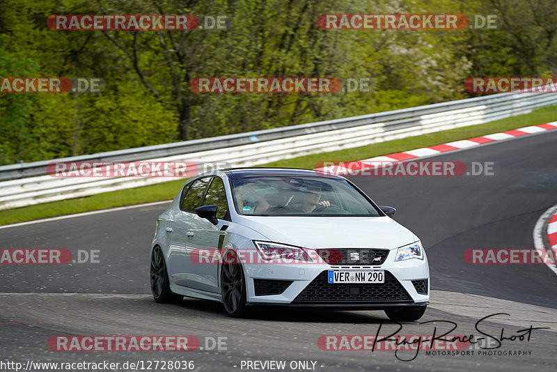
M229 316L242 318L248 313L244 270L233 251L226 252L225 258L221 269L222 303Z

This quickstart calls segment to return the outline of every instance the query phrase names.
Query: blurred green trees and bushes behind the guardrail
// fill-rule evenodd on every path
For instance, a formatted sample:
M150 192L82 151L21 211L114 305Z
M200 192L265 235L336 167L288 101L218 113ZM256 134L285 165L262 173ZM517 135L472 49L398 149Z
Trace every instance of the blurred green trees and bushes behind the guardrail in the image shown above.
M226 15L221 31L53 31L53 14ZM499 16L496 30L325 31L322 13ZM471 76L556 76L554 0L0 0L0 77L102 77L102 93L0 94L0 164L469 97ZM198 94L194 77L369 77L371 91Z

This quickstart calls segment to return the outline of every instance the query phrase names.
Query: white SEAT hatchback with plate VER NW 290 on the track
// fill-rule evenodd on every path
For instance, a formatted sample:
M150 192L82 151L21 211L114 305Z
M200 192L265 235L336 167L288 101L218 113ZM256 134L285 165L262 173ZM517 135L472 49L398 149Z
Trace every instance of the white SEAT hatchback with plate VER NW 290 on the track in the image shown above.
M272 304L379 309L391 320L418 320L430 299L427 257L394 212L340 176L203 173L157 219L153 296L219 301L236 317Z

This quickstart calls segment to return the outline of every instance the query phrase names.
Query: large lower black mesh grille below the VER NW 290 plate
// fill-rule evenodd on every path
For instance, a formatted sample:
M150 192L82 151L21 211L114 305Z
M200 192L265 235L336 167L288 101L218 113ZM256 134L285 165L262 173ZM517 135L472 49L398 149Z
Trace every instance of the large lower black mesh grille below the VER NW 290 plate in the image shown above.
M405 288L388 271L385 272L385 282L381 284L329 284L327 276L327 270L319 274L292 303L412 302Z

